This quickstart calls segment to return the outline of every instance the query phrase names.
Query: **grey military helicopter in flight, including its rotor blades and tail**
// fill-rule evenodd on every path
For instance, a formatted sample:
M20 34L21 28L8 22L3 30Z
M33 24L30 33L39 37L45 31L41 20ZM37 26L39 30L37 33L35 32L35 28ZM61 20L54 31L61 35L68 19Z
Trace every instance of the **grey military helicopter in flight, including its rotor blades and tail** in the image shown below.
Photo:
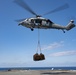
M74 24L74 20L70 20L67 26L56 24L52 22L50 19L43 18L41 15L38 15L37 13L35 13L23 0L14 0L14 2L17 5L24 8L25 10L27 10L28 12L30 12L31 14L35 15L35 17L16 20L17 22L19 22L18 25L22 25L24 27L30 28L31 31L33 31L35 28L36 29L58 29L58 30L60 29L65 33L65 30L68 31L76 26ZM48 13L45 13L44 15L55 13L55 12L58 12L58 11L61 11L67 8L69 8L69 5L64 4Z

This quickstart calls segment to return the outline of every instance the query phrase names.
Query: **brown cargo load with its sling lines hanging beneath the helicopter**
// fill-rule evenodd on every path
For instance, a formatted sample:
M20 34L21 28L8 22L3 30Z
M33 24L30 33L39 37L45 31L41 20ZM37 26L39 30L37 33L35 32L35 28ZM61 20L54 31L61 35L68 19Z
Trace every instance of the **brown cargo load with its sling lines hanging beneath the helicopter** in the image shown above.
M33 55L33 60L34 61L41 61L45 60L44 54L41 52L41 46L40 46L40 33L38 29L38 45L37 45L37 52ZM40 53L38 53L40 51Z

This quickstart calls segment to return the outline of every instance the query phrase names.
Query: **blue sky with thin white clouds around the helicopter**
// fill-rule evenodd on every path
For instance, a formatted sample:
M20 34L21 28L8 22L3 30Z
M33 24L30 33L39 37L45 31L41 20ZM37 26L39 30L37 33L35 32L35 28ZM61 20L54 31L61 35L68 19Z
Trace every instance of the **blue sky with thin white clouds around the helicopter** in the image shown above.
M0 0L0 67L75 67L76 27L66 33L62 30L41 29L40 45L45 60L33 61L33 55L37 51L38 30L31 31L18 26L15 20L34 15L13 1ZM68 25L71 19L76 21L76 0L24 1L40 15L68 3L68 9L43 17L63 26Z

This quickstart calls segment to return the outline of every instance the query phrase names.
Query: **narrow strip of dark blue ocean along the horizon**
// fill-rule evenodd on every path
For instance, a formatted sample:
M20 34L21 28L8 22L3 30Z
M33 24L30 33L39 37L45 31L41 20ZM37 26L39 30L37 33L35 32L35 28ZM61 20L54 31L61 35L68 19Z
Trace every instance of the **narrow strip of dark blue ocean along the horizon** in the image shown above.
M76 70L76 67L13 67L0 68L0 71L10 70Z

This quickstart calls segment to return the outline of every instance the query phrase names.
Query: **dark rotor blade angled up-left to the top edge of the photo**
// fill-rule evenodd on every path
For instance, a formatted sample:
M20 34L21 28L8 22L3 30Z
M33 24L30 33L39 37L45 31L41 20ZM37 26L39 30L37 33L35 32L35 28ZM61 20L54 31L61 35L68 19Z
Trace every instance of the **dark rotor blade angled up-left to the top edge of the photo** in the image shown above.
M28 5L26 2L24 2L23 0L14 0L14 2L16 4L18 4L19 6L21 6L22 8L26 9L27 11L29 11L31 14L33 15L37 15Z

